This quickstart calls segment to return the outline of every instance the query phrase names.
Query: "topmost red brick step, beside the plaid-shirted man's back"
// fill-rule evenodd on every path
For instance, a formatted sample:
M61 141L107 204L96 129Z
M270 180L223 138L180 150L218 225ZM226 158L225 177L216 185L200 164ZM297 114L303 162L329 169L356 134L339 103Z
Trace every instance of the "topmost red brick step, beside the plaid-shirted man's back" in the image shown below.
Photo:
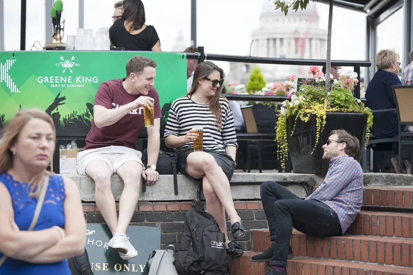
M413 186L365 186L363 206L412 208Z

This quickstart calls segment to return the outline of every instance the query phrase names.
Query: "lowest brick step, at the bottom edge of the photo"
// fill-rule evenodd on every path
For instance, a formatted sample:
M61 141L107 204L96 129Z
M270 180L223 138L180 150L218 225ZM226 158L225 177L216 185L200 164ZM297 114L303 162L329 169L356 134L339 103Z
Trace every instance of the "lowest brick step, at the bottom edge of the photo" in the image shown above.
M259 252L245 252L242 256L231 258L231 275L263 275L269 266L266 263L252 263L251 257ZM412 268L387 265L372 265L330 259L315 259L295 256L288 260L288 275L412 275Z

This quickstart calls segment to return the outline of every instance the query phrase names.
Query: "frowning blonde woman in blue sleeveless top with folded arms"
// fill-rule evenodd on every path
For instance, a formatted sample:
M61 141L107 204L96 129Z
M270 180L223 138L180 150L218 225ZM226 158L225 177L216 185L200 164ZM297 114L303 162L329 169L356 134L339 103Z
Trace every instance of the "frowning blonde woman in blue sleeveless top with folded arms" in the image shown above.
M0 142L0 274L70 275L67 258L85 251L85 218L76 184L50 175L52 119L38 109L19 111ZM45 176L50 175L39 219L27 231Z

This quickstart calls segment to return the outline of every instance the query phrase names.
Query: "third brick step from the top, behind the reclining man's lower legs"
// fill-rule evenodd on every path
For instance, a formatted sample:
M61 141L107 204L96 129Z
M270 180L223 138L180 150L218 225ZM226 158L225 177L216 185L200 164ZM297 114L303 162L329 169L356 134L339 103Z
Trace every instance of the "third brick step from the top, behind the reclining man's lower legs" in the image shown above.
M270 243L268 230L253 230L253 251L264 252ZM413 265L413 239L363 235L320 238L293 230L290 244L296 256Z

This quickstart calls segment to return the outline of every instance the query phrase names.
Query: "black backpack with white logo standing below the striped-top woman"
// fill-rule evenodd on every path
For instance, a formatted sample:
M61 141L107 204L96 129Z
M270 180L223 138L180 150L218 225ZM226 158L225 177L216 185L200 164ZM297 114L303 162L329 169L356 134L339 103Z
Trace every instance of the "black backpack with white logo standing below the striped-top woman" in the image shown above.
M224 233L202 207L187 210L179 250L173 253L173 258L180 275L229 274Z

